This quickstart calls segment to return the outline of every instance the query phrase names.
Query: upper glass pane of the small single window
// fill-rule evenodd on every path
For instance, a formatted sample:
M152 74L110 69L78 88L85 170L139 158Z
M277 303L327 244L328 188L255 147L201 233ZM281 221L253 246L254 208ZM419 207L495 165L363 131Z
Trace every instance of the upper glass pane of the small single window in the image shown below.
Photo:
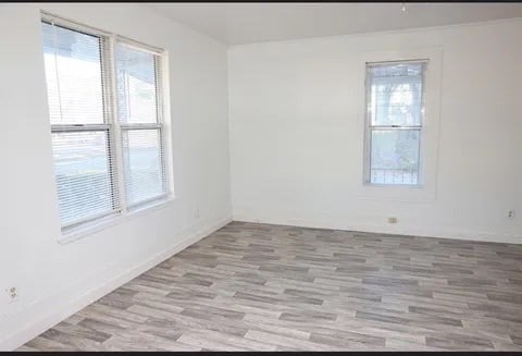
M369 67L372 125L422 124L423 69L423 63Z

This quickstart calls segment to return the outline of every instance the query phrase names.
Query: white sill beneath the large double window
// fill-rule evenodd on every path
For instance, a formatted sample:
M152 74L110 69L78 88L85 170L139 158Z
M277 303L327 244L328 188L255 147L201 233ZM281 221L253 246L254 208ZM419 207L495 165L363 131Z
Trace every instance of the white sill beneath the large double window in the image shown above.
M89 222L82 224L80 226L70 230L66 232L62 232L62 235L60 238L58 238L58 243L60 245L65 245L69 243L72 243L74 241L84 238L86 236L92 235L97 232L100 232L102 230L109 229L111 226L117 225L120 223L123 223L125 221L129 221L130 219L134 219L136 217L141 217L144 214L147 214L149 212L163 209L167 207L172 201L175 200L174 196L169 196L166 198L163 198L161 200L156 200L150 204L137 207L133 210L127 211L126 213L122 212L116 212L113 214L110 214L108 217L98 219L96 221Z

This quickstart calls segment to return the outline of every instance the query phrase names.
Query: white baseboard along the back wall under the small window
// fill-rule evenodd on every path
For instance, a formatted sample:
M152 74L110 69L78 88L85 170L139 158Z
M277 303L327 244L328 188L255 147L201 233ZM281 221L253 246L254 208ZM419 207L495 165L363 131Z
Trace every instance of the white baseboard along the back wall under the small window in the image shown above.
M372 233L382 233L382 234L440 237L440 238L481 241L481 242L504 243L504 244L522 244L521 235L498 234L494 232L483 232L483 231L476 232L476 231L467 231L467 230L437 229L437 228L433 229L433 228L419 228L419 226L390 228L389 225L383 225L383 224L357 224L357 223L353 224L353 223L346 223L346 222L335 223L332 221L320 221L320 220L311 221L306 219L277 219L277 218L252 219L249 216L236 213L236 212L234 213L233 219L234 221L271 223L271 224L301 226L301 228L361 231L361 232L372 232Z

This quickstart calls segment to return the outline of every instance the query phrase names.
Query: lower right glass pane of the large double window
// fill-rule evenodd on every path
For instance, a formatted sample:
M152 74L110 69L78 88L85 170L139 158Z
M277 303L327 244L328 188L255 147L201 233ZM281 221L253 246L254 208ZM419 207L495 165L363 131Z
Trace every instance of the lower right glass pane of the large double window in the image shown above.
M165 193L160 131L124 130L123 156L127 204L135 205Z

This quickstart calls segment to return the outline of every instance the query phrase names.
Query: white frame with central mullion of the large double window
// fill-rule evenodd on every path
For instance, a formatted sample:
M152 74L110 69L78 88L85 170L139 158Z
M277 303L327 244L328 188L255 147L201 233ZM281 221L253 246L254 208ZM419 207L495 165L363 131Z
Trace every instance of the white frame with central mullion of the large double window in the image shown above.
M102 65L102 88L103 88L103 108L104 108L104 123L103 124L51 124L51 134L55 132L79 132L79 131L107 131L108 139L108 155L111 160L111 177L113 180L113 211L103 213L100 217L89 218L73 224L61 225L61 236L59 243L69 243L86 235L94 234L100 230L107 229L111 225L125 221L135 216L142 214L147 211L153 211L158 208L164 207L167 202L173 200L173 171L170 162L172 161L172 147L170 142L170 125L167 119L169 107L167 97L169 87L165 76L166 71L166 51L156 48L142 42L104 32L91 26L78 24L75 21L66 20L61 16L50 14L41 11L40 22L55 24L58 26L85 33L100 38L101 46L101 65ZM116 97L116 69L115 69L115 45L116 42L134 47L140 51L147 51L154 54L156 71L157 71L157 123L120 123L117 118L117 97ZM164 70L165 69L165 70ZM47 93L46 93L47 95ZM125 192L125 171L123 159L123 132L125 130L158 130L160 138L160 151L162 152L161 169L163 174L164 194L149 200L140 201L132 206L126 204ZM54 181L55 184L55 181ZM58 189L57 189L58 192ZM57 205L58 209L58 205Z

